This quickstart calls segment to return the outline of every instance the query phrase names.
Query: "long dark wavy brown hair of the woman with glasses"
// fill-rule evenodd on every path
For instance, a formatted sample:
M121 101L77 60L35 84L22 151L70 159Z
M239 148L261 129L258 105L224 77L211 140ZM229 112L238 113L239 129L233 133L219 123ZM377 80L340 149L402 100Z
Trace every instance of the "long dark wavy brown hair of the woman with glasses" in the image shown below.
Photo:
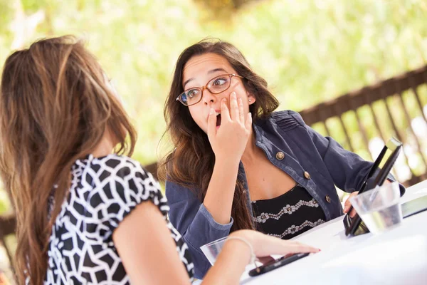
M175 99L184 92L182 74L185 64L193 56L205 53L223 56L238 75L243 76L243 85L248 93L256 98L255 103L249 107L254 122L268 117L279 105L278 100L268 90L267 82L252 71L246 58L231 43L204 40L189 46L181 53L176 62L169 97L164 105L164 118L167 122L165 134L169 135L175 149L162 160L159 177L190 187L201 202L204 200L214 171L215 155L208 136L191 118L189 108L176 102ZM231 208L231 217L234 219L233 231L253 229L243 190L243 178L238 175Z

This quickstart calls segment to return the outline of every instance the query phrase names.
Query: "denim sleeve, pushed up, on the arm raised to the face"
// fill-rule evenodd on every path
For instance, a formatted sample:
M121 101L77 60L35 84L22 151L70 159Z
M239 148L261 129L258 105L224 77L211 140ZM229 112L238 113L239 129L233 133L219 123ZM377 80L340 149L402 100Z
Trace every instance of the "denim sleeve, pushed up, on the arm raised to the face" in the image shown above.
M218 224L196 195L186 187L166 182L169 219L184 238L194 263L194 277L203 279L211 267L200 247L216 239L227 237L233 224Z

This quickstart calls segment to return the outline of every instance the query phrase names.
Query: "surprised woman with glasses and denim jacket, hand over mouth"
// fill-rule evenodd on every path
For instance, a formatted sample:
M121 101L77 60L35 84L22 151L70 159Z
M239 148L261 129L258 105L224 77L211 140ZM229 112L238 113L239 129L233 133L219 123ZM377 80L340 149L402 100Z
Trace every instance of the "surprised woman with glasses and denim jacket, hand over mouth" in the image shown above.
M231 43L201 41L176 62L164 107L174 150L159 176L196 278L210 267L202 245L237 229L295 237L342 215L335 185L355 192L370 170L371 162L316 133L298 113L274 112L278 105Z

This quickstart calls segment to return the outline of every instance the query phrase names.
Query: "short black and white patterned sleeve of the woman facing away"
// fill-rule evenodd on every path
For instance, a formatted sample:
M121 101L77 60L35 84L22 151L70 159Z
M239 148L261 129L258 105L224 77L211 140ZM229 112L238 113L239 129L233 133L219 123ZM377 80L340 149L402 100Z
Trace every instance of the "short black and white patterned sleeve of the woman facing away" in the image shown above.
M159 207L167 219L169 206L160 192L159 182L151 173L142 169L129 157L110 157L100 161L103 170L97 170L93 180L93 195L88 207L90 216L97 219L93 228L104 240L111 239L112 232L138 204L151 201ZM91 232L90 228L88 231Z

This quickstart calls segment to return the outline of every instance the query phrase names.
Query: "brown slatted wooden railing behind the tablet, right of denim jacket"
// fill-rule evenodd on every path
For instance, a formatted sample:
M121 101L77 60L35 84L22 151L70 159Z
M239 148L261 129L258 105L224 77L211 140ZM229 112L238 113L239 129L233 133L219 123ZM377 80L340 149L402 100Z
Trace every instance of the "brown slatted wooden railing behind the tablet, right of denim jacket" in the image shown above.
M332 133L332 124L328 124L328 121L337 120L338 123L334 126L339 125L344 133L344 140L339 142L353 152L368 153L371 160L374 158L370 150L371 140L380 138L385 142L388 137L384 125L389 125L391 135L405 145L401 157L404 163L400 169L404 170L406 167L406 172L409 170L410 175L405 175L401 182L409 186L427 179L427 90L420 91L421 88L427 88L427 66L320 103L302 110L300 114L307 125L322 125L324 135L328 136ZM383 112L379 110L379 104L382 105ZM368 112L364 112L365 116L362 116L362 108L368 108ZM370 118L367 118L367 113ZM416 113L419 115L416 116ZM354 114L357 130L352 131L349 124L344 122L343 117L347 114ZM371 129L369 132L366 125ZM363 147L354 147L354 133L359 133L362 137ZM411 163L413 161L418 163ZM399 178L399 171L396 174Z

